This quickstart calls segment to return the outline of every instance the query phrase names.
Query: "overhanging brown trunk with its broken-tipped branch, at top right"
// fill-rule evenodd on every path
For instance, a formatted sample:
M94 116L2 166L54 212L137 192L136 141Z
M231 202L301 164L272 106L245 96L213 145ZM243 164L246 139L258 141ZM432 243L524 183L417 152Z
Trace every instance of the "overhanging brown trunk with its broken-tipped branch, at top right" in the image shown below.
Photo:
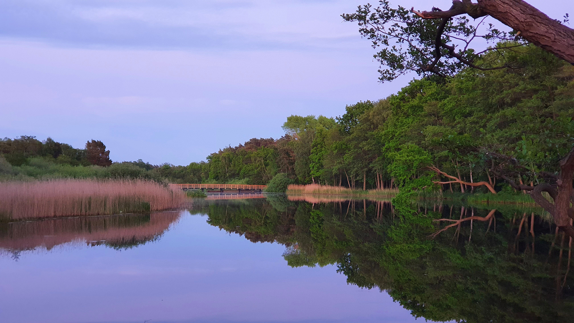
M411 11L424 19L444 19L460 14L468 14L476 19L489 15L519 32L530 43L574 64L574 29L560 24L522 0L477 1L454 0L447 11Z

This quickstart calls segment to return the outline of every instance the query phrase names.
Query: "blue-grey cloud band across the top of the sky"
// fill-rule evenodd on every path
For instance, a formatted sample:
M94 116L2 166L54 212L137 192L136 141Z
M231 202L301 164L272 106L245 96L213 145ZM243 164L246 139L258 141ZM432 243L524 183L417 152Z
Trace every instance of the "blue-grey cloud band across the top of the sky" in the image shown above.
M0 35L76 46L340 48L348 1L0 2ZM325 24L325 21L335 24Z

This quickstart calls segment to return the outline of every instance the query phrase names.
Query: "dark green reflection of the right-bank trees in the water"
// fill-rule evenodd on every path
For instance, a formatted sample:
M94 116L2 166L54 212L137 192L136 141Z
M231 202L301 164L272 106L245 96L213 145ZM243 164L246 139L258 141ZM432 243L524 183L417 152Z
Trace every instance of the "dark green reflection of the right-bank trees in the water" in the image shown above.
M289 266L336 264L348 283L385 290L416 317L566 322L574 314L571 241L547 217L508 206L488 217L490 209L421 205L408 217L380 202L292 203L282 212L259 202L207 213L251 241L286 244ZM472 216L486 221L459 221L430 239L445 227L433 219Z

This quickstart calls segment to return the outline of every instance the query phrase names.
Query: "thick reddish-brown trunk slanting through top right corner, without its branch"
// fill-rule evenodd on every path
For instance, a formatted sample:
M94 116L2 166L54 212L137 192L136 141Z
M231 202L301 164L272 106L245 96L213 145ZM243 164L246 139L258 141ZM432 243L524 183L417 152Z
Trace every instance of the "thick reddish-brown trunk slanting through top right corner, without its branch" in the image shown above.
M574 64L574 29L560 24L522 0L478 0L484 13L534 45Z

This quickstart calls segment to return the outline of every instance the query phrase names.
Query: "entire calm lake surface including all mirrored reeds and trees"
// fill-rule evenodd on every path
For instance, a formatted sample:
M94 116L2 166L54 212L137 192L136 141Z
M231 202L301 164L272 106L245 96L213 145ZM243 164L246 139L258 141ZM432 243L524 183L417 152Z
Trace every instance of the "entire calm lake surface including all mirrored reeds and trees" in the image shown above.
M417 216L491 209L431 203ZM568 238L522 211L433 240L388 202L282 196L0 224L0 321L567 322Z

